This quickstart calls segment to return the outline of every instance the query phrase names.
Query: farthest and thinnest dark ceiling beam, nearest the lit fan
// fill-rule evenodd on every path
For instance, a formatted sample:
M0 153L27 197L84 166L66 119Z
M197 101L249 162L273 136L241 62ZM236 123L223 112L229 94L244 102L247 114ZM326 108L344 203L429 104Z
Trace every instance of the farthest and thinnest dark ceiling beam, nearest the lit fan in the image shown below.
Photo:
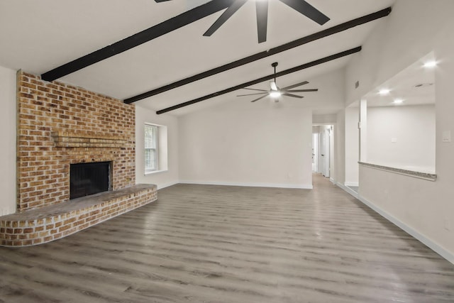
M215 92L213 94L207 94L204 97L199 97L199 98L193 99L191 101L186 101L186 102L174 105L174 106L170 106L170 107L167 107L167 109L161 109L159 111L156 111L156 114L160 115L160 114L167 113L169 111L175 111L175 109L181 109L184 106L189 106L189 105L198 103L200 101L204 101L206 99L210 99L210 98L213 98L213 97L218 97L218 96L221 96L221 94L227 94L229 92L236 91L237 89L242 89L242 88L248 87L250 85L254 85L254 84L258 84L260 82L264 82L264 81L267 81L267 80L270 80L270 79L274 79L275 77L281 77L281 76L284 76L284 75L288 75L288 74L290 74L292 72L298 72L299 70L304 70L304 69L309 68L309 67L314 67L316 65L321 65L323 63L326 63L326 62L329 62L329 61L332 61L332 60L336 60L336 59L341 58L341 57L352 55L354 53L360 52L360 50L361 50L360 46L358 46L357 48L352 48L350 50L345 50L345 51L343 51L341 53L336 53L336 54L330 55L328 57L323 57L323 58L321 58L319 60L315 60L315 61L312 61L312 62L309 62L309 63L305 63L305 64L299 65L297 67L292 67L292 68L290 68L288 70L283 70L282 72L277 72L276 74L267 75L265 77L261 77L259 79L255 79L255 80L252 80L252 81L249 81L249 82L245 82L243 84L238 84L238 85L236 85L234 87L229 87L228 89L223 89L223 90L221 90L219 92Z

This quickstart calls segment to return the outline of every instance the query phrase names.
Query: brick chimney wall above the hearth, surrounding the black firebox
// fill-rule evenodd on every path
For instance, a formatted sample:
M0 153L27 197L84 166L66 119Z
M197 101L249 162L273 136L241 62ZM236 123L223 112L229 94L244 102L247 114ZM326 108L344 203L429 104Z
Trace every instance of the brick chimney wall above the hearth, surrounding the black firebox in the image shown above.
M135 184L135 109L121 100L18 72L17 210L70 199L70 164L113 161L114 190ZM62 147L52 132L121 145ZM120 147L118 147L120 146Z

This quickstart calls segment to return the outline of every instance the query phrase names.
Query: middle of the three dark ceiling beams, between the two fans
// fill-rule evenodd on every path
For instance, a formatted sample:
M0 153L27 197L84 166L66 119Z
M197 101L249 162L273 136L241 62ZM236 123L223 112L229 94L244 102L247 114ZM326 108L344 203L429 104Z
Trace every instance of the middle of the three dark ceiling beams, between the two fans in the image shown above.
M210 77L213 75L216 75L220 72L226 72L227 70L231 70L235 67L240 67L241 65L248 64L250 62L254 62L260 59L263 59L265 57L269 57L271 55L276 55L277 53L282 53L285 50L290 50L292 48L296 48L298 46L304 45L306 43L310 43L315 40L319 40L321 38L327 37L328 35L333 35L335 33L340 33L341 31L346 31L349 28L353 28L355 26L360 26L362 24L368 23L370 21L375 21L379 18L383 18L385 16L388 16L389 13L391 13L391 8L388 7L387 9L382 9L381 11L377 11L375 13L370 13L369 15L362 16L360 18L355 18L353 20L347 21L345 23L341 23L337 26L333 26L331 28L327 28L326 30L319 31L318 33L314 33L312 35L307 35L303 38L299 38L297 40L294 40L289 43L285 43L283 45L279 45L276 48L271 48L270 50L265 50L260 53L256 53L254 55L250 55L248 57L244 57L243 59L236 60L233 62L230 62L226 65L222 65L220 67L216 67L212 70L207 70L206 72L201 72L200 74L187 77L185 79L181 79L179 81L173 82L171 84L167 84L165 86L159 87L157 89L152 89L149 92L144 92L143 94L138 94L134 97L130 97L128 99L125 99L124 102L127 104L131 104L135 101L139 101L141 99L145 99L148 97L155 96L156 94L161 94L163 92L167 92L170 89L175 89L177 87L181 87L185 84L189 84L192 82L196 82L200 79L204 79L206 77Z

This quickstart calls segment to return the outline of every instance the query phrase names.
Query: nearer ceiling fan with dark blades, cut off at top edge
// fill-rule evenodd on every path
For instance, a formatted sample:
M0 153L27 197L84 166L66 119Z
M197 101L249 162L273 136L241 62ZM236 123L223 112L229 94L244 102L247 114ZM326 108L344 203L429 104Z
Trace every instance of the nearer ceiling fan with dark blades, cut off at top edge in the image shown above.
M155 2L164 2L169 0L155 0ZM233 0L227 9L219 16L219 18L213 23L213 25L204 33L204 36L210 36L225 23L228 18L233 16L243 4L248 0ZM325 24L330 20L328 16L324 15L311 4L304 0L279 0L284 4L287 4L295 11L303 14L307 18L319 23L320 25ZM268 0L255 0L255 12L257 13L257 33L258 43L265 42L267 40L267 21L268 21Z

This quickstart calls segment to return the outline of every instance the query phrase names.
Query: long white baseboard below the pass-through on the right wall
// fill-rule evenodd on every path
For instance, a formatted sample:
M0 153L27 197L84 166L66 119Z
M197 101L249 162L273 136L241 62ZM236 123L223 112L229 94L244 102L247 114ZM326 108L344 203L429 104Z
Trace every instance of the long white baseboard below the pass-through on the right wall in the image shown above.
M428 248L431 248L431 250L435 251L438 253L438 255L441 255L443 258L448 260L450 263L454 264L454 254L451 253L448 250L445 250L445 248L439 246L437 243L431 241L431 239L426 238L422 233L419 233L419 231L416 231L414 228L411 228L410 226L404 224L402 221L397 219L396 217L392 216L389 214L387 211L384 211L381 209L379 206L373 204L370 201L367 201L364 197L359 196L357 193L353 192L350 188L342 185L342 184L337 184L338 187L341 187L345 192L348 192L351 194L353 197L357 198L360 200L360 202L366 204L367 206L370 207L370 209L376 211L378 214L384 217L384 219L387 219L390 221L392 224L396 225L397 227L401 228L403 231L408 233L410 236L416 238L416 240L420 241L424 245L426 245Z

